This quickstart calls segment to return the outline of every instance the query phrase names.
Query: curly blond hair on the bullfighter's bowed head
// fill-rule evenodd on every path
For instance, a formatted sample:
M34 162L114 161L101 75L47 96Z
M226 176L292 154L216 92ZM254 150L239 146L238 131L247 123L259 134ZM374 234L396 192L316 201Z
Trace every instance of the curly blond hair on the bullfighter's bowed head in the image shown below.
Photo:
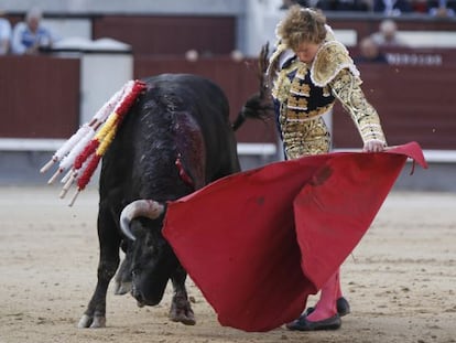
M319 44L326 37L326 18L319 10L292 6L278 26L282 43L297 50L303 42Z

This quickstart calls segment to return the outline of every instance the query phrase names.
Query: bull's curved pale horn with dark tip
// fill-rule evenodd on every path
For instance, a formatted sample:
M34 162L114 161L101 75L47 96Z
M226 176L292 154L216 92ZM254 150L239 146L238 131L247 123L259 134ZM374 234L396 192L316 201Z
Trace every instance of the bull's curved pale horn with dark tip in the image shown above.
M164 205L153 200L137 200L128 204L120 214L120 229L130 238L135 240L133 233L130 231L130 223L135 217L146 217L156 219L162 215Z

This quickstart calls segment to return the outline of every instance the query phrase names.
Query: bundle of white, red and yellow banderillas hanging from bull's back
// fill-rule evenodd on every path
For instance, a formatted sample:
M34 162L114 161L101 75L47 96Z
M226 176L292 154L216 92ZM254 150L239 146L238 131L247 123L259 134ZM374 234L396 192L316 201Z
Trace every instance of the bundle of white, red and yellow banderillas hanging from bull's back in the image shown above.
M53 183L64 171L67 174L62 179L64 186L61 197L65 197L72 184L77 182L77 190L70 200L74 204L77 195L89 183L98 167L101 157L112 142L116 132L139 94L146 85L141 81L129 81L117 92L94 116L84 124L52 157L42 169L46 172L54 163L59 162L55 174L47 183Z

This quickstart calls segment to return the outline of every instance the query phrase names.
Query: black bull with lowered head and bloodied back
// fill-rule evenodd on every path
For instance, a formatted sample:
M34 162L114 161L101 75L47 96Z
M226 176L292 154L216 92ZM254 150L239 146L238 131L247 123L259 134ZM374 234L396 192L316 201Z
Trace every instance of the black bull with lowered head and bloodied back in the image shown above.
M161 234L164 206L160 204L240 170L228 100L218 86L185 74L144 82L146 89L102 159L98 282L79 328L106 325L106 294L119 267L120 248L126 258L117 272L116 292L127 292L131 282L138 304L154 306L171 280L170 319L195 324L185 288L187 274ZM252 110L251 105L252 98L243 115Z

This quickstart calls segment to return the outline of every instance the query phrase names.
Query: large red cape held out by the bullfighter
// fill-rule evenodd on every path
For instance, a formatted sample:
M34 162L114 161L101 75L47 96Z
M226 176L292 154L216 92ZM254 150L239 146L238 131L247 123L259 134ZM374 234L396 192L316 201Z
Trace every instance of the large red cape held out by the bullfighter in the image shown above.
M241 172L170 202L163 234L220 324L294 320L369 228L417 143L305 157Z

